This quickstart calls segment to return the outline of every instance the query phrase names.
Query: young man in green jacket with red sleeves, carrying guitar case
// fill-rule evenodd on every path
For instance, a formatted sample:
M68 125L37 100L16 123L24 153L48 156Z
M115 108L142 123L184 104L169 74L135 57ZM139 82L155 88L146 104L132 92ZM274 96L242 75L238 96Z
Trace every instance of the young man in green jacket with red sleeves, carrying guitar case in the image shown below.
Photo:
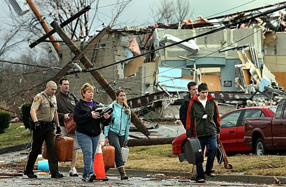
M217 136L219 137L221 132L221 120L217 103L211 95L208 95L206 83L198 86L198 92L200 95L194 96L188 107L186 134L188 138L199 139L202 153L205 147L208 149L206 171L204 172L202 164L196 164L196 181L205 182L204 174L215 176L212 167L217 153Z

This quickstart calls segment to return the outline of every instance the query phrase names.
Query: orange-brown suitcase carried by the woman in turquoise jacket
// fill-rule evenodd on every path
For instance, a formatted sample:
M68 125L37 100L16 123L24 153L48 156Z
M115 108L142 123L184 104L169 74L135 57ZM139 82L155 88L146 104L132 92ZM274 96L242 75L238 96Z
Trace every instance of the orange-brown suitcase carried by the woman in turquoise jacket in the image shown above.
M104 144L102 146L102 156L104 162L104 168L107 171L109 168L115 168L115 148L110 145Z

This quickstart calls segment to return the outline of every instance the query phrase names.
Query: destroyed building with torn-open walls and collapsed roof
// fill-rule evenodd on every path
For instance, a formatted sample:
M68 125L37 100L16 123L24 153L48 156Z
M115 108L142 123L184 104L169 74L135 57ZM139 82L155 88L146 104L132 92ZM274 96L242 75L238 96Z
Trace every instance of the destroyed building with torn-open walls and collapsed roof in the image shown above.
M186 19L183 23L170 25L156 23L147 28L126 26L123 29L113 29L99 43L95 43L94 50L90 50L87 57L94 67L101 67L235 23L273 7L274 5L267 5L209 19L200 17L198 21ZM149 107L148 110L146 107L143 110L136 109L138 115L160 108L161 113L165 111L162 118L178 118L178 111L176 114L174 111L179 107L174 102L188 91L186 85L189 81L206 82L210 93L217 100L233 104L235 108L241 104L239 101L243 101L241 106L271 104L265 103L265 99L277 98L277 94L271 93L283 94L283 87L286 87L283 81L286 65L284 14L285 11L279 11L259 17L181 45L106 67L100 72L112 87L126 90L131 108ZM83 48L88 41L78 41L76 44ZM73 55L66 45L61 45L61 51L61 64L64 65ZM67 77L71 81L70 90L78 98L81 97L80 87L83 83L90 82L96 88L96 100L111 102L105 90L88 73ZM254 99L255 94L265 90L271 93ZM247 100L255 103L247 103ZM171 112L166 112L168 109Z

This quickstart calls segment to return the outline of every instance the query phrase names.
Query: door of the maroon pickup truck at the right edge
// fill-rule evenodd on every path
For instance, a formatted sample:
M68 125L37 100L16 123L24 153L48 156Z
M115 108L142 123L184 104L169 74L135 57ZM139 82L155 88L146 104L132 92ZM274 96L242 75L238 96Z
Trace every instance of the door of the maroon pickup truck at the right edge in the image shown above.
M285 101L281 100L277 106L275 116L272 120L273 145L277 150L285 150L286 137L286 111ZM284 110L283 110L284 109ZM283 115L282 115L283 114Z

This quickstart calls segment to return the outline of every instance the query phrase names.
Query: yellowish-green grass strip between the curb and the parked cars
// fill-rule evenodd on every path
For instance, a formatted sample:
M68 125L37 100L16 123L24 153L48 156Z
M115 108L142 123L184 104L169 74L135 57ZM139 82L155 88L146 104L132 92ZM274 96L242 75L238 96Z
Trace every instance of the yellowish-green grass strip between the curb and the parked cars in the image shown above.
M170 144L138 146L130 147L129 149L128 160L125 164L127 169L192 172L191 164L188 164L188 162L180 163L178 156L172 154L172 145ZM215 159L213 169L217 174L240 173L245 175L286 176L286 156L235 155L229 157L229 162L233 165L232 170L226 170L223 164L219 165L217 159ZM18 163L25 163L25 160ZM78 153L76 165L83 166L83 164L83 155L80 152ZM206 158L204 166L205 164ZM70 162L62 162L60 165L69 166Z

